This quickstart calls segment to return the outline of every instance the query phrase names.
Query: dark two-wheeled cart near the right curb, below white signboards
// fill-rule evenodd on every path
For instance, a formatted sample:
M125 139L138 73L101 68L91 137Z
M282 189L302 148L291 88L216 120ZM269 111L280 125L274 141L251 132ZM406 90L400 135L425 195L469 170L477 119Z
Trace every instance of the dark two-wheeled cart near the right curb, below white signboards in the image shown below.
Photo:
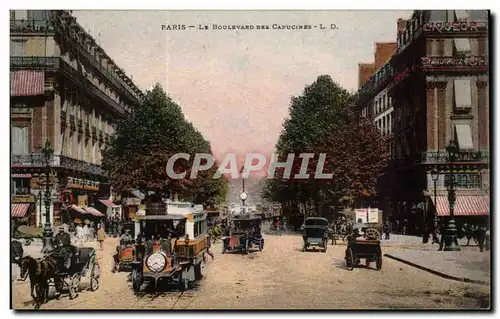
M347 268L353 270L354 266L360 264L360 259L365 259L366 267L374 261L377 270L382 269L382 249L380 248L380 240L354 238L349 236L347 248L345 251L345 261Z

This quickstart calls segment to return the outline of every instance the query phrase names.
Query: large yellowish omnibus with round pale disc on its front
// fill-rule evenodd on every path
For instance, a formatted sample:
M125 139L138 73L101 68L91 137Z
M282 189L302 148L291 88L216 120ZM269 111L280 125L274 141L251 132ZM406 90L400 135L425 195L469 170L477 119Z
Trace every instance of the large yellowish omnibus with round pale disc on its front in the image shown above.
M156 288L160 280L176 283L184 291L203 277L208 247L206 214L186 211L145 216L141 233L145 240L136 245L132 268L135 292L146 281Z

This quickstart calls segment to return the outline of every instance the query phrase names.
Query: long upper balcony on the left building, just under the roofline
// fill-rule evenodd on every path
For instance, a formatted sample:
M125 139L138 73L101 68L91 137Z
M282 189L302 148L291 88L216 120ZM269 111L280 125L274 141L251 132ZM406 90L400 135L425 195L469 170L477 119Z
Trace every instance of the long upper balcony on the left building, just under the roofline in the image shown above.
M106 93L97 88L83 74L59 57L11 57L10 68L15 69L42 69L45 71L58 71L68 79L78 84L88 94L96 97L111 110L123 117L127 112L118 103L113 101Z

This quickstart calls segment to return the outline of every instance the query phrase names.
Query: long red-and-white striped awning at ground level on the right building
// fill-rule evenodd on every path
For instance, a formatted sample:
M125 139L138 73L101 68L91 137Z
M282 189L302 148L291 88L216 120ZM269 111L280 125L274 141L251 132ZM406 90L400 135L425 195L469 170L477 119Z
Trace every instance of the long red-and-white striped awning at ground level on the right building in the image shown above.
M433 196L431 196L434 202ZM436 196L438 216L450 216L448 196ZM457 195L454 216L487 216L490 214L490 196L487 195Z

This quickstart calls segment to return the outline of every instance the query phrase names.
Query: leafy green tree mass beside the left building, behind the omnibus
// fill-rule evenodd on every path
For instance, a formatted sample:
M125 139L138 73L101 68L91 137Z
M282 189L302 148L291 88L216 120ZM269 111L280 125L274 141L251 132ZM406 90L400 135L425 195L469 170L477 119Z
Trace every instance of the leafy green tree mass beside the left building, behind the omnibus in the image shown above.
M180 180L172 179L166 172L168 159L177 153L191 154L190 160L175 162L174 172L186 172ZM210 143L186 121L180 106L157 84L146 93L132 116L118 125L103 152L102 167L118 191L153 191L154 201L174 193L189 198L200 192L197 186L205 187L208 183L189 179L195 153L211 153ZM207 196L215 196L218 191L222 190L211 190Z

